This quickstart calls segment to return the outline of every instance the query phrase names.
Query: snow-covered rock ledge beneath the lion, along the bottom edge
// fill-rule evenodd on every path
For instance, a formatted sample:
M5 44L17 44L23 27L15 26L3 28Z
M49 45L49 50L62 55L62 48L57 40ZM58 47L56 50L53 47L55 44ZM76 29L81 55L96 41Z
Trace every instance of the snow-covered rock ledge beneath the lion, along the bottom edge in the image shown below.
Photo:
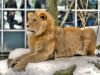
M57 58L39 63L29 63L25 71L17 72L11 68L8 69L7 60L2 60L0 61L0 75L53 75L55 71L67 69L73 64L77 66L74 75L100 75L100 70L91 63L92 61L100 61L100 58L96 56Z

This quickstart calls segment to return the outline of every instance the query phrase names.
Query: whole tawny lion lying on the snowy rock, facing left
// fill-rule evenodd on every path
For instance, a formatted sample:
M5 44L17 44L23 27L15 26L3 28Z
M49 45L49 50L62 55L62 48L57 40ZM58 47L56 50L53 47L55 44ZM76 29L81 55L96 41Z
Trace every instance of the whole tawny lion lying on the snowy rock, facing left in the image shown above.
M41 62L76 54L95 55L96 34L93 29L55 26L54 18L46 11L28 12L28 46L30 52L10 62L22 70L31 62Z

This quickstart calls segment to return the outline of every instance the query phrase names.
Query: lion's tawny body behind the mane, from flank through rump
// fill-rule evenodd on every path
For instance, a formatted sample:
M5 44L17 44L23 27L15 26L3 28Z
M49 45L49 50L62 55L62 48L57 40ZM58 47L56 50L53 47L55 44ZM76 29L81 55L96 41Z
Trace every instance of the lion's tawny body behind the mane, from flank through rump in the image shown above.
M85 50L91 53L95 51L95 45L96 36L93 29L81 30L74 27L57 27L56 29L56 57L73 56L83 51L85 47Z

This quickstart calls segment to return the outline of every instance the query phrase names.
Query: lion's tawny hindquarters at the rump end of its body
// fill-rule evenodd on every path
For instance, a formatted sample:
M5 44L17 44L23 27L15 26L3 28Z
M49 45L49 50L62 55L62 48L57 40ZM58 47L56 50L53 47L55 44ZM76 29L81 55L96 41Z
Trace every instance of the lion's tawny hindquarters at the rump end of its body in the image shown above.
M87 55L95 55L96 50L96 34L93 29L84 29L84 51Z

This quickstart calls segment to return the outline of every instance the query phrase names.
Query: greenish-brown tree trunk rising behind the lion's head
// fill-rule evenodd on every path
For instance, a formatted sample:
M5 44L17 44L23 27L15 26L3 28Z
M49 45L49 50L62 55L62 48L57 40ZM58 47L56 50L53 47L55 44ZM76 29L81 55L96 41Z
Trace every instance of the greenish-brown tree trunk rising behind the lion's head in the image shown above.
M58 25L58 12L57 12L57 1L58 0L46 0L47 11L54 17L55 25Z

